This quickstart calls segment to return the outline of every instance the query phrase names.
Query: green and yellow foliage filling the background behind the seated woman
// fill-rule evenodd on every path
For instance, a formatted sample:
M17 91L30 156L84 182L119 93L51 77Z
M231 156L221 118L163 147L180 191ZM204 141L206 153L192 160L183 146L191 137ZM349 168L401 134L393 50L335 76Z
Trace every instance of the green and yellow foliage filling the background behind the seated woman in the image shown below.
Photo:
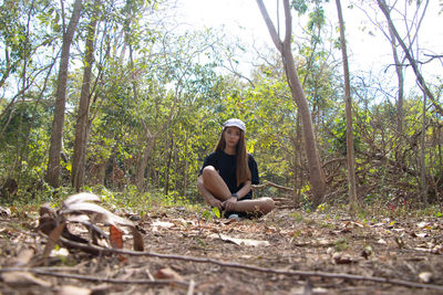
M71 49L63 187L59 191L48 187L43 176L62 24L66 22L62 15L69 15L72 8L43 0L33 6L27 1L0 4L0 46L2 54L8 54L0 59L0 86L4 89L0 97L0 188L8 178L17 180L19 190L12 202L52 200L69 190L84 40L91 19L96 18L84 190L104 196L110 206L143 212L156 204L198 204L203 200L195 181L203 159L216 145L223 122L238 117L247 125L247 148L258 162L261 180L295 188L301 198L299 206L310 212L302 126L280 57L260 52L264 59L255 61L246 84L223 71L228 63L239 64L238 52L249 51L241 40L229 44L228 34L215 29L166 32L151 22L162 11L162 3L153 2L83 3ZM331 57L330 43L337 32L329 32L326 25L326 2L291 1L292 9L307 17L300 18L307 22L295 40L296 67L311 109L320 160L328 164L329 196L333 196L317 208L320 212L329 212L333 206L344 208L347 202L343 82L341 65ZM405 97L400 135L396 105L383 94L393 96L396 89L381 88L367 76L351 81L359 198L384 214L404 214L409 206L422 200L418 162L422 97L414 93ZM433 85L436 93L441 88L441 82ZM427 199L439 203L443 191L442 118L432 112L425 116ZM146 167L140 168L144 158ZM138 169L144 169L143 188L135 183ZM257 194L286 197L274 187ZM408 206L399 207L403 200Z

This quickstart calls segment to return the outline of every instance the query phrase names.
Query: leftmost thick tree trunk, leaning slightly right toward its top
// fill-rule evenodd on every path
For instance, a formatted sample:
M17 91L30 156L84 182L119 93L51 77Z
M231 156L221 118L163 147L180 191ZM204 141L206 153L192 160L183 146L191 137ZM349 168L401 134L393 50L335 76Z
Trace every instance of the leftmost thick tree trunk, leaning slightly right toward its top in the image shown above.
M47 170L47 181L50 186L56 188L60 186L60 154L62 151L64 110L66 103L68 66L70 57L71 43L80 19L82 10L82 0L75 0L71 20L68 30L63 34L62 55L60 59L60 69L58 76L58 86L55 94L54 118L52 120L51 146L49 149L49 160Z

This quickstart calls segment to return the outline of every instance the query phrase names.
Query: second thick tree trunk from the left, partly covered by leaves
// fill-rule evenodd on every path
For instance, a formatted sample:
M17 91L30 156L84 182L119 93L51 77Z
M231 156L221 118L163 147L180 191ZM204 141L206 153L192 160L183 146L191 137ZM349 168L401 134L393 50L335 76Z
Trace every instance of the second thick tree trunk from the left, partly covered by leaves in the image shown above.
M94 1L96 8L99 1ZM89 137L89 113L90 113L90 98L91 98L91 72L92 64L94 62L94 40L95 40L95 28L97 23L96 15L93 15L87 27L86 35L86 50L85 50L85 62L83 72L83 84L80 94L79 114L76 117L75 125L75 143L74 143L74 156L72 159L72 187L80 191L80 188L84 186L84 171L86 166L86 146Z

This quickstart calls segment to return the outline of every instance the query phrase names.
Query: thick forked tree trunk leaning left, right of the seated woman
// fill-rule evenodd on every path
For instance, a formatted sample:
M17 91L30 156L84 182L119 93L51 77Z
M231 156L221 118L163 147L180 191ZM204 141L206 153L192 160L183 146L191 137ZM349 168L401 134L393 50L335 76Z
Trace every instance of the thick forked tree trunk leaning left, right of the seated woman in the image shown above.
M303 128L303 137L305 137L305 149L308 158L309 166L309 181L312 186L312 204L316 208L319 203L321 203L324 192L326 192L326 180L323 169L320 165L320 159L318 156L317 141L313 134L312 118L309 110L308 101L306 99L303 89L301 87L300 80L298 77L296 65L291 52L291 14L289 0L284 0L285 7L285 22L286 22L286 35L285 40L281 42L279 39L277 31L274 27L272 21L269 18L268 11L265 8L262 0L257 0L257 4L261 11L261 14L265 19L265 22L268 27L269 33L272 38L272 41L276 48L279 50L282 60L286 76L288 80L289 87L291 89L292 98L297 103L299 114L301 117L301 124Z

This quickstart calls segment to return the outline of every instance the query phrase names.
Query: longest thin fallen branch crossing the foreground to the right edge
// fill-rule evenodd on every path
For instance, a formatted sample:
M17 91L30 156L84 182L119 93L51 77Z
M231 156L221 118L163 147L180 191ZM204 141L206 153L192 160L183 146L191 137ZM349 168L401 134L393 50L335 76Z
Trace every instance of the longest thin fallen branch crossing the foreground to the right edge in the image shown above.
M138 251L122 250L122 249L101 247L101 246L96 246L96 245L87 245L87 244L71 242L71 241L69 241L69 240L66 240L64 238L60 238L60 240L63 243L65 243L66 245L70 245L72 247L86 250L86 251L96 251L96 252L102 253L102 254L114 253L114 254L126 254L126 255L132 255L132 256L150 256L150 257L177 260L177 261L187 261L187 262L195 262L195 263L210 263L210 264L215 264L215 265L219 265L219 266L224 266L224 267L248 270L248 271L260 272L260 273L271 273L271 274L280 274L280 275L291 275L291 276L292 275L298 275L298 276L319 276L319 277L328 277L328 278L367 281L367 282L392 284L392 285L400 285L400 286L406 286L406 287L429 288L429 289L443 291L443 286L442 285L422 284L422 283L403 281L403 280L396 280L396 278L392 278L391 280L391 278L387 278L387 277L362 276L362 275L343 274L343 273L272 270L272 268L267 268L267 267L239 264L239 263L235 263L235 262L222 262L222 261L217 261L217 260L213 260L213 259L205 259L205 257L182 256L182 255L174 255L174 254L161 254L161 253L154 253L154 252L138 252ZM8 268L0 270L0 273L4 272L6 270L8 270ZM30 268L30 271L31 270L32 268ZM35 270L38 270L38 268L35 268Z

